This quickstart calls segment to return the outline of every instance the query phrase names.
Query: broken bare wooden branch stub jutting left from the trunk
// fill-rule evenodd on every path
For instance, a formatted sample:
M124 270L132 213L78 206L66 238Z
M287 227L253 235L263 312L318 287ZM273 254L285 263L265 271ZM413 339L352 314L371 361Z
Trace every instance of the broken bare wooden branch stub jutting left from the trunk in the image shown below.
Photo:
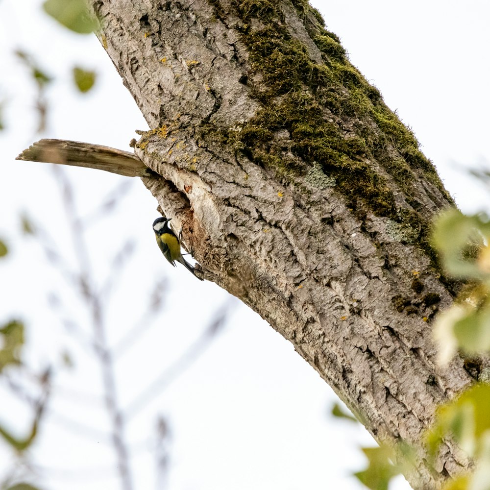
M118 173L126 177L153 175L134 153L79 141L39 140L25 149L16 160L72 165Z

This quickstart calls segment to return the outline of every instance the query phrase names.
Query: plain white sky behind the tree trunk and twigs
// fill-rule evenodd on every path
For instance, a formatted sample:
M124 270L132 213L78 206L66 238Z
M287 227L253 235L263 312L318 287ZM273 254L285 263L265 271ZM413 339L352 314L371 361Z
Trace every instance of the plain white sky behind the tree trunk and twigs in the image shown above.
M38 137L35 93L13 50L33 53L56 77L48 92L51 112L43 137L129 149L134 129L147 126L95 37L74 36L58 27L40 11L40 3L0 2L0 99L6 101L8 124L0 133L0 237L8 240L13 252L0 263L0 322L12 316L26 321L27 357L34 367L59 366L63 350L75 362L72 370L60 370L56 376L50 415L32 450L33 460L47 468L35 483L53 490L112 490L120 487L107 441L98 365L60 321L63 316L74 319L90 332L86 311L60 274L46 264L36 242L23 239L19 231L19 213L26 211L49 230L76 267L52 171L48 165L14 161ZM488 165L490 159L488 1L312 3L328 28L342 38L353 64L413 127L459 206L465 211L482 209L488 195L466 177L465 169ZM98 72L97 86L86 96L78 95L70 83L75 63ZM82 216L90 215L107 191L123 181L83 169L67 169L66 174L75 184ZM185 351L227 298L214 284L197 281L181 267L169 267L154 243L155 208L156 201L134 179L118 211L87 233L98 284L125 239L137 239L135 259L107 302L112 345L137 321L155 281L168 278L163 314L117 359L123 407ZM48 306L50 292L60 296L64 315ZM0 422L22 431L29 412L7 393L0 388ZM156 392L130 419L136 488L164 488L155 483L152 449L156 416L161 414L171 429L171 490L360 489L348 474L363 467L357 447L371 439L362 428L328 415L334 400L291 344L248 308L234 303L224 333L192 368ZM76 430L66 418L83 428ZM9 466L7 456L0 441L0 475ZM401 479L391 487L407 488Z

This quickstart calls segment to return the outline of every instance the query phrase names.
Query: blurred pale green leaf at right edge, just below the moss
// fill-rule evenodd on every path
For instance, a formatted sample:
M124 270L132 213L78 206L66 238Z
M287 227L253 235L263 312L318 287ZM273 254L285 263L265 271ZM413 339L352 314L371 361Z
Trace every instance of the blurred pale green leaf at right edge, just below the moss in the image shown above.
M457 209L442 213L436 221L433 243L441 251L445 269L454 277L490 280L490 222L480 214L465 216ZM478 260L477 260L478 259Z

